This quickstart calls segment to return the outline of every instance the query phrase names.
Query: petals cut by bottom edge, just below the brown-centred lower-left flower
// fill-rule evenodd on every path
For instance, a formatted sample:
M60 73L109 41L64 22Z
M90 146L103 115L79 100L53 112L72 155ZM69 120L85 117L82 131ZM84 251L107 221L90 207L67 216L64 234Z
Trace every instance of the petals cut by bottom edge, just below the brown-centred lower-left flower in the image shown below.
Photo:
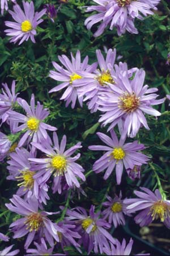
M37 247L37 249L27 249L27 256L32 256L32 255L58 255L58 256L62 256L65 254L61 254L61 253L54 253L53 254L53 250L54 250L54 246L51 247L50 249L48 249L48 247L46 246L45 240L44 238L41 238L41 244L39 245L39 243L34 242L34 245Z

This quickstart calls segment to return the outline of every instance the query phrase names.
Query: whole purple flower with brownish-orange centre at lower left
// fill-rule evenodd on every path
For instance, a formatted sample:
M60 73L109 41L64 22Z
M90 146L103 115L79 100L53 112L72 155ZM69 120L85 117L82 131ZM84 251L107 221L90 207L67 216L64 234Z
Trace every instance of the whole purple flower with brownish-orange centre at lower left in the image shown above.
M10 228L14 232L14 238L20 238L28 234L25 241L25 249L33 241L35 235L39 238L44 237L48 241L50 246L54 246L54 240L59 242L58 232L62 233L62 229L59 226L53 224L47 216L56 214L52 212L39 211L39 202L35 197L29 197L28 201L24 201L19 196L14 195L10 199L10 204L5 204L6 207L24 216L14 221Z

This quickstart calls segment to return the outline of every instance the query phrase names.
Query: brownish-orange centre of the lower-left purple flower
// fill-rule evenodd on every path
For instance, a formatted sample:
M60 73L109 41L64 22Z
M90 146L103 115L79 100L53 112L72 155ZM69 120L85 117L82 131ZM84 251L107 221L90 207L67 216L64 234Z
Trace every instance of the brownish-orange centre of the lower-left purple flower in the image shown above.
M31 213L27 216L27 220L24 222L27 225L29 232L33 230L37 231L43 224L41 213Z

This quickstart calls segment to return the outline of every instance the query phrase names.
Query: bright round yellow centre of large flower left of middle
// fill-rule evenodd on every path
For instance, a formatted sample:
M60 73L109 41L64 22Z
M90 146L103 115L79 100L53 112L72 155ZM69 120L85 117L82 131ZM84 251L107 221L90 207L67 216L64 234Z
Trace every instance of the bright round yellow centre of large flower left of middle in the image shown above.
M63 172L66 170L66 159L61 155L56 155L52 158L52 167L56 169L56 175L63 175Z

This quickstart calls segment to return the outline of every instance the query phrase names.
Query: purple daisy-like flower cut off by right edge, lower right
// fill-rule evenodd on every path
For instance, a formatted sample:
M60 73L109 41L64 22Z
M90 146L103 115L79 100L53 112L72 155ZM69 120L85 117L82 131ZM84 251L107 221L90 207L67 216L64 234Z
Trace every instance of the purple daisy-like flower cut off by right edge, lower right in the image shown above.
M141 212L135 216L134 220L140 226L147 226L152 221L160 219L167 228L170 228L170 201L164 200L159 189L155 193L148 188L141 188L144 192L134 191L138 198L125 199L124 203L129 204L128 213Z

